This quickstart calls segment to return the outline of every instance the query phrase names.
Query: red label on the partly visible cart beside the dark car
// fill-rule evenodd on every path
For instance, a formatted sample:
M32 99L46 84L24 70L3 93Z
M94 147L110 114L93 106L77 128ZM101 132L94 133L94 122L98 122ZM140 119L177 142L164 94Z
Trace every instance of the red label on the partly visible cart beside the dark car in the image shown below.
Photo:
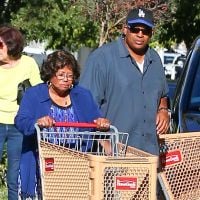
M169 151L160 155L160 162L163 167L174 165L182 161L180 150Z

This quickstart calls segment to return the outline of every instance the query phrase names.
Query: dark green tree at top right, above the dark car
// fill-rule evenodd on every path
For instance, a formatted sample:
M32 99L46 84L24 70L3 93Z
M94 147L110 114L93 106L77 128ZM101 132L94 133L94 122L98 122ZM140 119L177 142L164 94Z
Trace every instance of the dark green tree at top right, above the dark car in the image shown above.
M171 20L160 24L158 40L169 46L168 41L185 42L190 48L200 33L200 2L196 0L173 0L170 4Z

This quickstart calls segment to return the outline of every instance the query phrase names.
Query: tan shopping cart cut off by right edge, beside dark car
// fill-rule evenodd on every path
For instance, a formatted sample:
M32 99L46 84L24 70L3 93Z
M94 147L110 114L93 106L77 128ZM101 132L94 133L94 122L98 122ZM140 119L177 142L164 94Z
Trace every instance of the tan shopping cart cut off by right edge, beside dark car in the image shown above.
M159 143L166 200L200 200L200 132L160 135Z

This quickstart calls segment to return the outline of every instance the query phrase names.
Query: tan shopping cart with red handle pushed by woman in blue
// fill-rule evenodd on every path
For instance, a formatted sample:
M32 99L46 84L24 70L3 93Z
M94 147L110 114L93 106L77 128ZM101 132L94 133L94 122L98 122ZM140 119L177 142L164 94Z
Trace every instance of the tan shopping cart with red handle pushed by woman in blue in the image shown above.
M154 200L157 157L128 147L128 133L47 132L35 125L43 200ZM60 130L60 129L59 129Z

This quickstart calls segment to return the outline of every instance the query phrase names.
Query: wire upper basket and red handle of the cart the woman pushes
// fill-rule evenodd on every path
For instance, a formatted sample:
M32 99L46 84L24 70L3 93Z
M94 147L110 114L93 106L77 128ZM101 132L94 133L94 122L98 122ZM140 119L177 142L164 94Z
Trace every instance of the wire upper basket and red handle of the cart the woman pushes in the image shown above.
M69 148L87 154L102 156L125 156L128 133L118 132L110 126L109 132L100 131L64 131L58 127L94 128L93 123L56 123L54 131L40 129L36 124L38 141L51 143L63 148ZM60 132L58 131L60 130Z

